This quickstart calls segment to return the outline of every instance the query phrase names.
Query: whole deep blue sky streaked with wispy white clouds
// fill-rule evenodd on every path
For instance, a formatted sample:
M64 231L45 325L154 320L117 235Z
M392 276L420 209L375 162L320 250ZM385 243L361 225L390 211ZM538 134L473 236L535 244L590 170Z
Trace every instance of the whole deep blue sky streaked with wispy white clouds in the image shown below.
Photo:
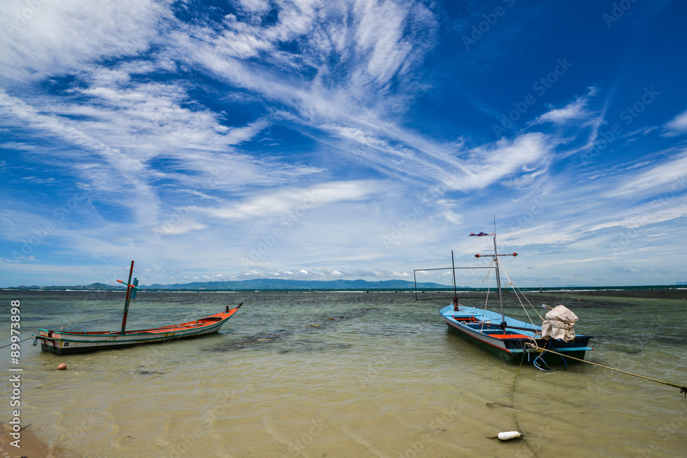
M686 16L3 1L0 286L412 280L494 216L519 286L687 282Z

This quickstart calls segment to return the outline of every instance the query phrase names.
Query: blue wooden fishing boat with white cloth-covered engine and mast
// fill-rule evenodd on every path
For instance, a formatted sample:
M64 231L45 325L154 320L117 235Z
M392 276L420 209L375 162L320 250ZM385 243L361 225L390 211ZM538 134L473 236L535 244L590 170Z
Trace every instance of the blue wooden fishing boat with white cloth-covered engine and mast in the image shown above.
M502 296L501 273L502 266L499 257L517 256L517 253L498 254L495 233L471 233L471 236L493 236L494 254L480 255L475 257L491 257L492 262L489 267L494 269L501 313L486 310L484 308L466 307L458 302L458 295L455 292L455 264L453 267L453 302L440 310L442 319L449 326L449 329L464 339L479 345L480 347L492 352L509 363L521 363L523 360L534 363L535 367L543 370L549 369L552 363L567 363L575 360L583 360L585 352L593 350L589 347L589 339L592 336L575 334L574 324L577 321L576 315L564 306L548 308L549 312L545 317L541 317L536 308L532 306L537 316L541 319L541 325L521 321L519 319L507 317L504 313L504 301ZM453 257L453 252L451 252ZM461 268L461 267L458 267ZM439 270L439 269L422 269ZM417 271L416 271L417 272ZM513 286L512 282L508 282ZM521 292L513 286L513 293L521 299ZM525 305L520 300L523 308ZM530 315L528 314L528 317Z

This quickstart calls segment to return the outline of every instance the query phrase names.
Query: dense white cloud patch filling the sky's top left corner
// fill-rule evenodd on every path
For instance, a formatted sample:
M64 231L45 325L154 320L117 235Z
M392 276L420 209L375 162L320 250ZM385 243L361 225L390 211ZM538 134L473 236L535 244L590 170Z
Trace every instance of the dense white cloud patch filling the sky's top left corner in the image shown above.
M3 1L0 17L8 19L0 34L0 76L26 82L102 58L135 56L159 39L172 13L168 2L153 0Z

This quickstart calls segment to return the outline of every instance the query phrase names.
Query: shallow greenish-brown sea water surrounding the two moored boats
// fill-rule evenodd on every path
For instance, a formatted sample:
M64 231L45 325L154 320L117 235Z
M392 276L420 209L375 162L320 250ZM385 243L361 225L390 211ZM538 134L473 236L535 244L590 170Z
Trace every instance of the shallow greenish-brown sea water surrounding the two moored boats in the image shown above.
M576 331L595 336L588 360L677 385L687 385L686 296L528 295L539 310L564 304L578 315ZM117 330L124 294L4 290L0 299L4 345L10 300L21 300L26 338L60 325ZM483 306L484 293L460 293L460 301ZM679 389L583 363L548 372L523 365L516 378L517 365L447 330L438 309L448 301L413 293L142 292L127 328L239 302L221 332L199 339L74 356L25 341L22 424L67 457L687 455ZM506 308L524 316L512 295ZM0 358L9 363L9 348ZM68 369L56 370L60 363ZM513 430L524 439L493 439Z

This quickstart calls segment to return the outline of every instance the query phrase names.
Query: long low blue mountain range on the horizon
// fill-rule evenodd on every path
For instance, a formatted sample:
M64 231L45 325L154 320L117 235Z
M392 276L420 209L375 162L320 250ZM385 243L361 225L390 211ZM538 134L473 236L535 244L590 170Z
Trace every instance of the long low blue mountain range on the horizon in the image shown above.
M420 289L449 288L438 283L418 283ZM152 284L141 285L141 288L151 290L370 290L370 289L414 289L414 282L406 280L385 280L383 282L368 282L367 280L287 280L280 278L260 278L240 280L234 282L192 282L184 284ZM7 289L43 289L43 290L124 290L124 286L113 286L93 283L81 286L17 286Z

